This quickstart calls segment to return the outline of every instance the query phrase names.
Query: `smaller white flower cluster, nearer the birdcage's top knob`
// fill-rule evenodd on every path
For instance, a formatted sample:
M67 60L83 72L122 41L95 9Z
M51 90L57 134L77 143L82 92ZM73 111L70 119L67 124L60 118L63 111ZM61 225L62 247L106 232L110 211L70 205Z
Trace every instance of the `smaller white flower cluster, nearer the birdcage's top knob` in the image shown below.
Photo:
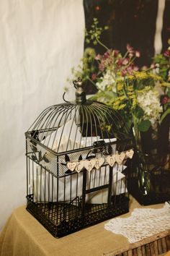
M107 70L100 79L101 81L97 82L97 88L99 88L99 90L105 90L108 85L112 85L112 91L116 93L115 74L113 72Z

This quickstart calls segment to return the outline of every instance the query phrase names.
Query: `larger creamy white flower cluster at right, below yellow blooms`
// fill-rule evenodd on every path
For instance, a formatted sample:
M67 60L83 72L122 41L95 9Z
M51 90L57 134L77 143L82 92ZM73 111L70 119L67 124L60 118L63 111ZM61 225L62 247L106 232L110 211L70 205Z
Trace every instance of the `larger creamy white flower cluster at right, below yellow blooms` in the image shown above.
M138 105L144 111L144 119L151 121L152 126L156 124L156 121L160 118L160 114L163 108L159 101L159 93L156 88L152 90L146 90L138 94Z

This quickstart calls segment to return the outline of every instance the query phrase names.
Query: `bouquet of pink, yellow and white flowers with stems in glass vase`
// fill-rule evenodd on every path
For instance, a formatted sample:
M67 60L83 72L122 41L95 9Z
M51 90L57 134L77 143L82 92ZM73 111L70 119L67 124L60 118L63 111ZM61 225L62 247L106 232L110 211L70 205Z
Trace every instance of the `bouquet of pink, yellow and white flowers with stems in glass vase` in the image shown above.
M86 48L81 64L73 69L73 76L97 88L97 93L91 96L93 100L106 103L121 114L137 152L134 163L137 186L143 195L148 195L151 186L156 189L155 181L151 184L151 174L169 169L170 46L164 54L153 58L151 67L139 68L135 60L140 58L140 52L132 46L128 44L122 54L102 43L100 35L106 29L99 27L94 18L91 29L86 31L86 43L100 44L104 54ZM163 124L166 129L162 132Z

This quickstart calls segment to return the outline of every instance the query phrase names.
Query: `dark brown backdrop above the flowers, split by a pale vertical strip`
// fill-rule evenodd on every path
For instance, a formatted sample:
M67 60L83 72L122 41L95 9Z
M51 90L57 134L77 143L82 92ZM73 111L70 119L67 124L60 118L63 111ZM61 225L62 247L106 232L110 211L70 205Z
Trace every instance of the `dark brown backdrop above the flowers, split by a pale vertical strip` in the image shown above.
M84 12L86 28L92 24L93 18L97 17L99 25L108 25L109 30L102 34L102 42L108 48L126 51L127 43L140 51L138 59L140 67L150 65L154 55L154 36L156 32L156 16L158 0L84 0ZM164 51L170 38L170 0L166 0L164 11L164 25L162 40ZM101 46L86 45L96 48L97 52L103 53Z

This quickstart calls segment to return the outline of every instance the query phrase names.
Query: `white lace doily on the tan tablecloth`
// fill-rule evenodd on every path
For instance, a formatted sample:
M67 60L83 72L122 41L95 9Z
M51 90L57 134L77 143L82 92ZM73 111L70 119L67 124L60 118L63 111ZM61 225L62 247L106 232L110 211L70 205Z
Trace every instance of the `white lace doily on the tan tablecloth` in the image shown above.
M170 229L170 205L161 209L136 208L128 218L113 218L104 228L115 234L122 234L130 243Z

